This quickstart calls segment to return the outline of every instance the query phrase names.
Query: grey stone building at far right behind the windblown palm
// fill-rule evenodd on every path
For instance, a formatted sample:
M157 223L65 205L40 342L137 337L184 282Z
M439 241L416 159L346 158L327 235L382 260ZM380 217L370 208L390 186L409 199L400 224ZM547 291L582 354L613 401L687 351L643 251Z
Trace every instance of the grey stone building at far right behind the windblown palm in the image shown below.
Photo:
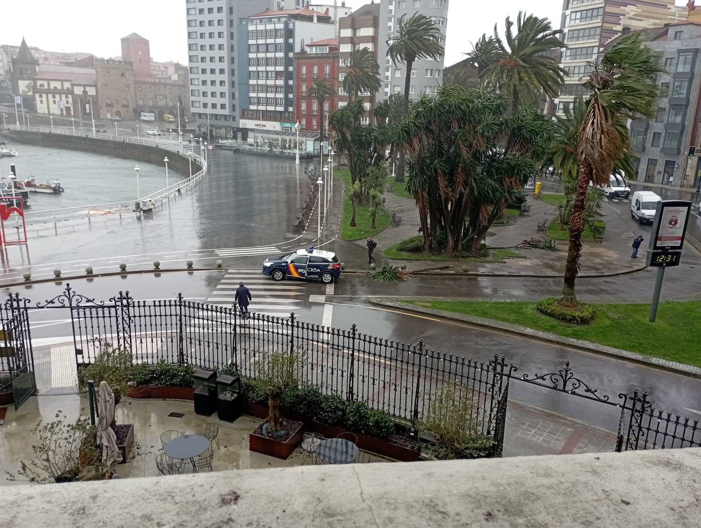
M701 23L683 20L643 34L648 46L662 55L667 72L657 78L660 98L655 119L630 122L637 180L697 188L701 156L689 157L688 152L701 144Z

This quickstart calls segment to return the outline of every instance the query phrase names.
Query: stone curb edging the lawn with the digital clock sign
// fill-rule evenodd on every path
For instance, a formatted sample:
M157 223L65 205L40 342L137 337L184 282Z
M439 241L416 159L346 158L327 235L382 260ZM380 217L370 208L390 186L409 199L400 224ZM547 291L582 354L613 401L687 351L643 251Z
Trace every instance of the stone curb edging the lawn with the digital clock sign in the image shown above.
M404 311L422 313L423 315L438 316L440 318L458 321L459 323L468 323L472 326L486 328L487 330L498 330L499 332L504 332L517 337L528 337L547 344L566 346L568 348L574 348L578 351L594 353L599 356L608 356L610 358L628 361L630 363L637 363L646 367L653 367L656 369L665 370L667 372L674 372L674 374L681 374L682 376L686 377L701 379L701 368L694 367L693 365L676 363L676 361L662 360L660 358L653 358L653 356L644 356L639 353L620 350L620 348L613 348L612 346L591 343L590 341L583 341L581 339L572 339L571 337L563 337L557 334L551 334L550 332L540 332L540 330L533 330L532 328L512 325L511 323L502 323L501 321L496 321L493 319L465 316L461 313L424 308L423 306L416 306L414 304L407 304L400 301L392 301L383 297L370 297L369 301L370 304L376 304L378 306L402 309Z

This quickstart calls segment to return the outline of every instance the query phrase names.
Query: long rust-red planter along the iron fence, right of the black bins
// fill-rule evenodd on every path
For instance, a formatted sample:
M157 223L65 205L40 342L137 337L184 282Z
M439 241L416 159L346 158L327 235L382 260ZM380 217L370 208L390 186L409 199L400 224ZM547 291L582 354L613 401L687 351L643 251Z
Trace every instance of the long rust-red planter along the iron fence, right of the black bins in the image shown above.
M252 416L255 418L266 419L268 417L268 407L260 403L249 403L245 402L243 404L243 414ZM298 417L294 414L289 414L283 412L283 417L286 419L293 419L301 421L304 423L304 429L308 433L318 433L326 438L336 438L336 436L341 433L348 433L353 431L348 431L348 429L336 426L329 426L327 424L320 424L318 421L313 421L306 417ZM388 440L381 440L380 438L374 438L372 436L366 436L361 433L355 433L354 435L358 437L358 448L364 449L381 456L386 456L390 459L400 460L402 462L414 462L419 460L421 456L421 450L416 448L411 448Z

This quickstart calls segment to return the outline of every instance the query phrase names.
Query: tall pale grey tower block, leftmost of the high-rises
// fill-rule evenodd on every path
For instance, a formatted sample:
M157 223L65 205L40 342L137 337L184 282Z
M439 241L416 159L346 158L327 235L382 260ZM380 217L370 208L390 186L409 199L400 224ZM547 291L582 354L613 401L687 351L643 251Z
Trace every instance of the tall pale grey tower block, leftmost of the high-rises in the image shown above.
M271 8L273 0L185 0L185 4L193 119L198 129L209 126L217 137L240 138L239 21Z

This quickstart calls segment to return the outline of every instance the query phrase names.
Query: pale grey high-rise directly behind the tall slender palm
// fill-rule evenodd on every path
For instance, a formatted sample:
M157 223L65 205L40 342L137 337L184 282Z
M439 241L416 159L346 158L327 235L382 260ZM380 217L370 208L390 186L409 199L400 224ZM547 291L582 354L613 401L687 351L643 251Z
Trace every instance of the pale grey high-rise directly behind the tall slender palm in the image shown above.
M380 73L383 87L380 99L389 97L391 93L404 93L406 65L395 65L387 57L387 40L395 34L402 16L411 17L420 13L433 19L440 29L440 42L445 46L445 35L448 26L448 0L381 0L380 2L380 38L377 56L379 57ZM411 67L411 85L409 97L414 99L423 93L433 94L442 82L443 57L440 60L419 59Z

